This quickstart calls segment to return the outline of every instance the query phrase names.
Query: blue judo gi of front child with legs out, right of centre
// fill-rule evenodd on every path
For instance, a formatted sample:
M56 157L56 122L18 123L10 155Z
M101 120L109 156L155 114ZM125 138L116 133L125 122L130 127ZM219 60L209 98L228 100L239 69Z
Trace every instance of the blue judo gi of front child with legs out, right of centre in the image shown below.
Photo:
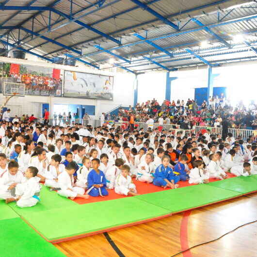
M172 168L165 168L163 164L161 164L155 170L153 184L159 187L165 187L167 185L167 182L164 180L165 178L168 179L170 182L173 180L174 184L179 181L179 177L175 176Z

